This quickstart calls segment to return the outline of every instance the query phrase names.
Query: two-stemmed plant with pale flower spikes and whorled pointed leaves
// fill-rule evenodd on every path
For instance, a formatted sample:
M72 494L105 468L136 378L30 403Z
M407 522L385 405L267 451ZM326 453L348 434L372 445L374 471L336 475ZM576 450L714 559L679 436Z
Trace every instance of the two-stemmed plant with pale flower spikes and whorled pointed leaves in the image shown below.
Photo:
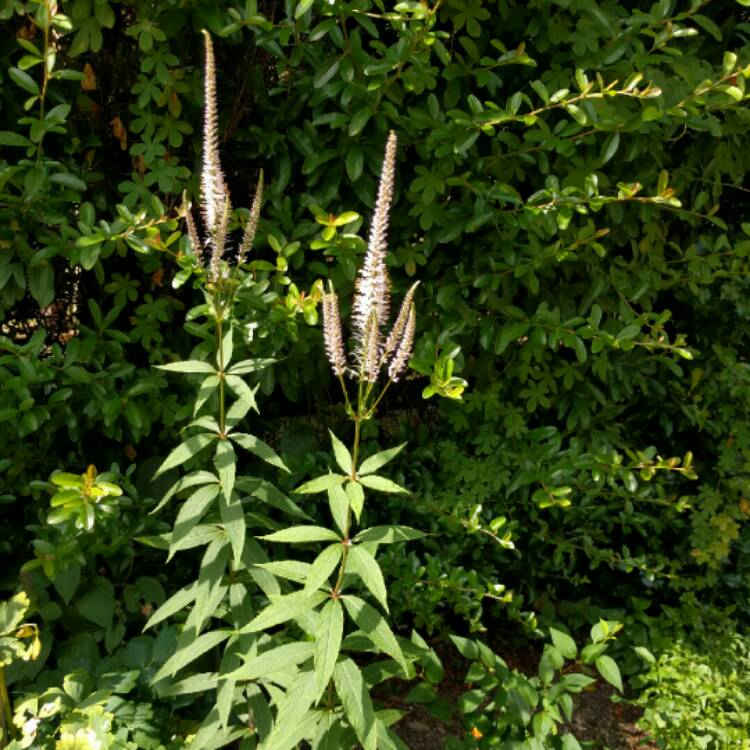
M250 411L257 410L257 388L248 385L245 377L269 364L266 359L233 363L233 331L239 324L233 300L238 288L254 283L242 264L257 227L262 181L237 265L230 268L224 258L230 200L219 161L215 64L207 34L205 73L202 241L189 206L185 216L206 298L191 318L207 319L199 331L213 343L214 356L162 365L167 371L200 374L202 382L194 420L187 428L192 434L169 453L157 472L195 467L172 484L159 508L172 498L182 499L168 539L170 557L200 546L205 546L205 553L197 580L168 599L147 624L155 627L175 616L181 621L175 651L154 675L154 685L172 696L215 690L214 706L192 738L193 750L218 748L237 739L259 750L290 750L303 740L313 748L350 748L357 743L365 750L397 747L399 741L388 728L397 715L376 712L370 688L391 676L413 676L419 649L400 641L383 615L388 611L387 590L376 554L380 544L421 534L404 526L353 533L353 518L361 517L366 489L406 492L376 473L403 446L363 461L359 456L361 424L403 374L414 342L416 285L407 292L390 331L386 330L390 282L385 254L396 137L391 134L386 146L369 247L357 279L352 316L355 347L350 358L344 349L336 293L330 288L323 296L327 355L344 386L355 426L351 450L331 433L337 471L296 490L327 494L333 524L326 528L306 523L313 519L267 479L238 471L235 446L277 469L286 471L286 467L269 445L240 430ZM383 371L387 382L377 392ZM345 377L357 383L355 400L349 398ZM231 405L230 393L236 398ZM204 468L196 457L207 448L214 452L213 465ZM264 512L264 506L272 515ZM279 513L304 523L284 525ZM323 549L310 558L310 545L320 542ZM280 544L305 546L291 558L267 553L268 545ZM345 636L346 619L351 632ZM219 648L221 658L209 672L187 674L191 665L205 662ZM352 656L361 651L389 658L363 668Z

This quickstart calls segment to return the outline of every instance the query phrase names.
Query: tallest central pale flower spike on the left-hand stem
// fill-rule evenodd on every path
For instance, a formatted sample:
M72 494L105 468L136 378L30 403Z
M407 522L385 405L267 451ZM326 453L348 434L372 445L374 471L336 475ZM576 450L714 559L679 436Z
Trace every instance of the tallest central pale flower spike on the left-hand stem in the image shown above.
M214 48L209 33L204 29L203 35L206 43L206 69L204 71L204 97L203 110L203 171L201 173L201 210L203 214L203 225L206 230L206 246L214 247L217 235L223 231L226 236L226 227L222 230L220 224L224 216L229 215L226 210L229 202L229 193L224 181L224 173L221 171L219 161L219 121L216 113L216 63L214 62ZM223 246L219 248L223 253Z

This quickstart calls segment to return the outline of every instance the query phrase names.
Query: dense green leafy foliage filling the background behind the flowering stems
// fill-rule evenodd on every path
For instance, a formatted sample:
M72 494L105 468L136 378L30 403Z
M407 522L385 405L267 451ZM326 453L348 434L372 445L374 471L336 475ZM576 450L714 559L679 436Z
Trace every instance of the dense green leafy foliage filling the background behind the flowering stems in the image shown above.
M257 399L252 432L290 471L238 457L248 528L286 526L290 511L330 525L318 496L289 501L333 465L325 427L352 443L319 303L331 281L348 317L393 130L387 262L397 298L421 281L414 372L361 442L370 455L408 441L388 468L411 494L368 499L361 521L426 534L378 555L406 660L437 685L412 627L554 627L582 644L618 620L612 655L665 747L744 741L746 711L725 697L727 663L747 661L732 618L750 610L749 5L0 4L0 673L16 711L11 728L2 682L3 731L25 746L86 747L93 732L102 747L177 748L213 716L254 746L248 709L222 687L217 702L215 675L237 653L209 638L174 679L164 668L195 611L179 592L212 561L188 549L165 569L185 503L153 513L177 479L156 470L189 434L202 382L158 366L216 361L183 221L199 195L205 28L240 206L230 230L261 169L266 181L230 330L235 361L273 360L243 373L254 395L236 395ZM208 546L209 575L249 564L233 544ZM250 610L233 617L278 593L254 570ZM700 641L693 630L717 618L721 637ZM340 662L339 680L361 680L365 663ZM368 685L396 674L366 669ZM265 736L263 702L275 711L282 691L243 689ZM477 711L495 746L493 708ZM395 713L378 717L378 742L396 743ZM513 721L505 737L521 743L531 716ZM340 728L316 746L351 746Z

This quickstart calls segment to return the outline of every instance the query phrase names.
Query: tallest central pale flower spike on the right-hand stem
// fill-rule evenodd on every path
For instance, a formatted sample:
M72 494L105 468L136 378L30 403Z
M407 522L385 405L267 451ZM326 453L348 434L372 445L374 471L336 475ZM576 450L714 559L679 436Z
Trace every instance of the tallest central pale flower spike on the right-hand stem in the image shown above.
M357 277L352 305L352 326L355 337L363 344L370 313L375 311L380 324L388 320L391 285L385 267L388 241L388 215L393 200L393 181L396 169L396 134L391 131L385 146L385 158L380 171L378 197L370 227L367 254Z

